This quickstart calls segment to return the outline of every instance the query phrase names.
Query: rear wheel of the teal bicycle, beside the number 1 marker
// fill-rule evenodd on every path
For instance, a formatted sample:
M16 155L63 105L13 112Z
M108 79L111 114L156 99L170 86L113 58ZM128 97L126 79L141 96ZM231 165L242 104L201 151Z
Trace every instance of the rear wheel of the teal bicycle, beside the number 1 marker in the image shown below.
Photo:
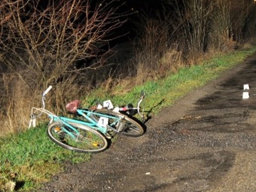
M131 137L139 137L141 135L144 134L144 129L143 127L136 122L135 120L133 120L132 118L120 114L120 113L116 113L107 109L96 109L94 110L95 113L98 114L104 114L104 115L108 115L108 116L114 116L114 117L123 117L119 123L121 123L122 125L122 131L119 132L120 134L126 135L126 136L131 136ZM97 114L91 114L91 118L93 120L95 120L96 122L99 121L100 115ZM111 119L109 119L109 124L111 124ZM118 130L118 127L113 127L116 130Z

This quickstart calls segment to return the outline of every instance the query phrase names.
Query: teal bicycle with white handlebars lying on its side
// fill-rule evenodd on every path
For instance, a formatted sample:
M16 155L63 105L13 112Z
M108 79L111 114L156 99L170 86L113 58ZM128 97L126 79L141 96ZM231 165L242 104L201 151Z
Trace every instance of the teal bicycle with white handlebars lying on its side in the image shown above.
M83 119L57 116L45 109L46 94L52 89L50 86L42 94L42 108L32 108L29 127L35 127L36 118L42 114L50 118L47 134L59 146L82 153L98 153L109 146L110 132L139 136L144 133L143 127L129 117L117 113L96 113L86 109L79 109L79 101L67 104L67 109ZM99 117L97 120L95 117Z

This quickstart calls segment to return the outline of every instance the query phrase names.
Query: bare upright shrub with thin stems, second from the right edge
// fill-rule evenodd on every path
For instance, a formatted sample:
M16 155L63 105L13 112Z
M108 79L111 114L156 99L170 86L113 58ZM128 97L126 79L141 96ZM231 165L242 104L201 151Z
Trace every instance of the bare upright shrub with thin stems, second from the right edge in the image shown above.
M186 48L186 53L192 55L204 52L207 42L207 32L210 27L209 16L212 11L212 1L208 0L166 0L173 7L173 26L176 38Z

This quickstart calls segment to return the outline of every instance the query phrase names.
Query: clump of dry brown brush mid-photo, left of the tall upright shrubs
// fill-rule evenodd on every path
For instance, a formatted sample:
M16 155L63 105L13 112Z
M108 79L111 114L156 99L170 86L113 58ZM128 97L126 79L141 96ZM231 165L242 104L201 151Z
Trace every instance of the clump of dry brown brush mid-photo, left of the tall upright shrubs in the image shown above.
M156 80L184 66L182 51L169 33L169 20L146 19L136 42L136 83Z

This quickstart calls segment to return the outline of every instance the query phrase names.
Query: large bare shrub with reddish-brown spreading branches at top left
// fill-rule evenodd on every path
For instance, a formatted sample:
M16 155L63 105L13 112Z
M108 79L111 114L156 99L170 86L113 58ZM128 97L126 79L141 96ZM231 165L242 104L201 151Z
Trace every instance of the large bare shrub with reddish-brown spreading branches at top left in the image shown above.
M92 7L81 0L51 1L45 8L39 3L7 5L11 15L2 25L7 35L0 45L9 68L34 88L99 67L99 63L84 63L79 69L76 65L97 56L110 32L123 24L121 15L116 14L118 7L105 2Z

